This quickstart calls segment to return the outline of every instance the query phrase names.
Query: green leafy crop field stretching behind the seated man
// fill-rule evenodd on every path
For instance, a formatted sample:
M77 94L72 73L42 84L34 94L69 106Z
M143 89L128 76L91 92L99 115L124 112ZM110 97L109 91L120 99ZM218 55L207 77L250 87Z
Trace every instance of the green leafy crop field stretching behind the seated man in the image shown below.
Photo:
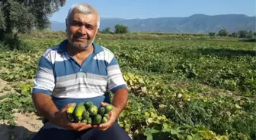
M22 39L0 51L0 120L35 112L37 63L61 38ZM256 44L236 39L96 39L117 57L130 100L118 123L134 139L256 139ZM1 94L0 94L1 95Z

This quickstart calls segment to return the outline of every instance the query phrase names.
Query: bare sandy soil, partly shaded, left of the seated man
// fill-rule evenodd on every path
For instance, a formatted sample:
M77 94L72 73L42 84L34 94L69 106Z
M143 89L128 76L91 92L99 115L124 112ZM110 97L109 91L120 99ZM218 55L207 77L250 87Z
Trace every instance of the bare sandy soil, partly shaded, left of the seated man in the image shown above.
M0 98L11 92L14 92L14 89L8 86L8 82L0 79ZM7 121L0 120L0 140L29 140L43 126L36 114L15 113L14 117L14 127L9 126Z

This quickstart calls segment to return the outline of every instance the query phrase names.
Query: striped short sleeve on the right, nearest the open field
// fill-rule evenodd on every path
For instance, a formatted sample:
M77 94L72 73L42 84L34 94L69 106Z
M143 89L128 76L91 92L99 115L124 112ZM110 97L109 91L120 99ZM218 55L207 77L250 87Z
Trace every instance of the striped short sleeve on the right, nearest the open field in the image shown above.
M117 89L127 88L116 57L113 57L107 65L107 77L107 85L110 92L114 93Z

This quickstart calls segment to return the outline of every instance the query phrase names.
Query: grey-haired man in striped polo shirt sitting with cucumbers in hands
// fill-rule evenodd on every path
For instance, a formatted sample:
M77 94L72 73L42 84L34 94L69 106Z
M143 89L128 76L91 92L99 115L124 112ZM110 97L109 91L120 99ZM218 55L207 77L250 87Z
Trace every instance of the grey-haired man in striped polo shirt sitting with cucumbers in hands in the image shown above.
M126 82L114 54L94 43L99 25L100 17L91 5L73 5L66 18L67 39L40 58L32 97L46 122L34 140L130 139L116 121L127 104ZM108 90L114 93L114 109L107 123L67 121L66 110L72 104L110 104Z

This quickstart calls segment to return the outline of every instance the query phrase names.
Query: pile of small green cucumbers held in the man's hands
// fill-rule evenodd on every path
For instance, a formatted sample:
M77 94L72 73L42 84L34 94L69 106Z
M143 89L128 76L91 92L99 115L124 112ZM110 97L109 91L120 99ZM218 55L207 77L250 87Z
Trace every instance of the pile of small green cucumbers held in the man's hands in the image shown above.
M92 101L79 103L77 106L69 107L67 110L67 119L70 123L86 123L98 125L107 123L110 119L110 111L113 110L111 104L97 107Z

